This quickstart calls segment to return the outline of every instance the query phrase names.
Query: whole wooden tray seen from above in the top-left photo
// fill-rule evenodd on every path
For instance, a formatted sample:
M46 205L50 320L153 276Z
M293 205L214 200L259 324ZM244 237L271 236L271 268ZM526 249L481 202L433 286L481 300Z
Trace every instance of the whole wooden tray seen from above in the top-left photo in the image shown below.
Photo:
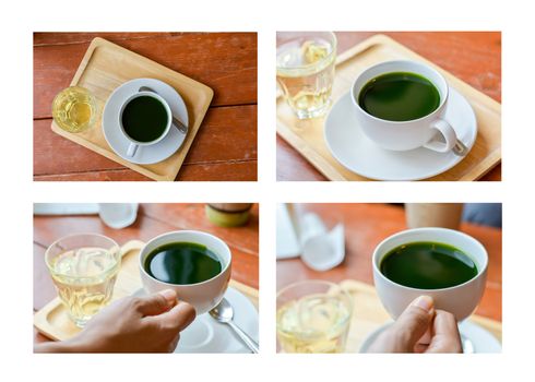
M52 131L151 179L175 180L214 96L210 87L99 37L91 43L71 81L71 86L78 85L90 89L97 98L102 116L104 105L111 92L124 82L139 77L166 82L182 96L188 108L190 120L188 136L182 146L167 159L152 165L136 165L122 159L106 142L100 118L93 129L81 133L64 131L54 121Z

